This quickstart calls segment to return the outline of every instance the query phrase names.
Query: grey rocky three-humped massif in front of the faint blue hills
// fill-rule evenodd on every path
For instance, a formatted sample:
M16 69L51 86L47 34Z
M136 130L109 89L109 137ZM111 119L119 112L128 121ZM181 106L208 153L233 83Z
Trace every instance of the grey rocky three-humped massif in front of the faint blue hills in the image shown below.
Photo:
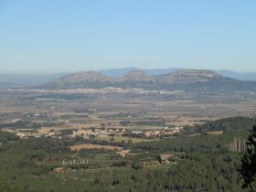
M209 69L176 69L161 75L148 75L143 70L133 69L121 77L106 76L97 71L72 73L37 86L37 89L100 89L106 87L212 93L256 91L256 81L234 80Z

